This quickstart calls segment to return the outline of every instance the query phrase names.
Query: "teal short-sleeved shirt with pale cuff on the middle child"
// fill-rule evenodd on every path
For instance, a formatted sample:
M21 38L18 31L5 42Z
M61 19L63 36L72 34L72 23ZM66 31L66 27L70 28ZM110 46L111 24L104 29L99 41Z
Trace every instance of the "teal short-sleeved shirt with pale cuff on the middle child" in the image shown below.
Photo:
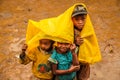
M49 61L57 64L58 70L68 70L72 65L72 53L71 51L68 51L67 53L61 54L56 52L56 50L53 50L53 53L49 58ZM66 80L66 79L73 80L75 76L76 73L72 72L64 75L58 75L58 78L59 80Z

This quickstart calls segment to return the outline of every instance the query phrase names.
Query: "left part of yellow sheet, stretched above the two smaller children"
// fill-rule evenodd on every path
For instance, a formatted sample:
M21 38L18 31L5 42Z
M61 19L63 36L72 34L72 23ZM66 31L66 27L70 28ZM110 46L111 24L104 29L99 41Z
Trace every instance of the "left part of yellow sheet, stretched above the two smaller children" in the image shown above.
M73 43L74 30L71 20L73 9L74 6L58 17L43 19L39 22L29 20L26 32L26 43L29 48L38 46L40 39Z

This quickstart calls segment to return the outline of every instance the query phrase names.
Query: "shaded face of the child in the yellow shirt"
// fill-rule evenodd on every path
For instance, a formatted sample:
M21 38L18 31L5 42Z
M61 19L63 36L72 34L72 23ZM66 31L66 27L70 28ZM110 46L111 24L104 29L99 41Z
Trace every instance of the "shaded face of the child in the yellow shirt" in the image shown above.
M53 42L49 39L41 39L39 42L40 48L45 51L49 51Z

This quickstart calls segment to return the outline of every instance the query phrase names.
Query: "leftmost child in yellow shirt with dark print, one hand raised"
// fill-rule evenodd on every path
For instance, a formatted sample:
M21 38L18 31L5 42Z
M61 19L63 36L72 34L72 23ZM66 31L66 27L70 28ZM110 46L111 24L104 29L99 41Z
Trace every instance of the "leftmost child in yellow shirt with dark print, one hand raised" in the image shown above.
M32 72L40 80L52 80L52 71L48 63L48 58L52 53L53 43L52 40L41 39L39 46L29 51L26 51L27 45L24 45L20 54L22 64L33 62Z

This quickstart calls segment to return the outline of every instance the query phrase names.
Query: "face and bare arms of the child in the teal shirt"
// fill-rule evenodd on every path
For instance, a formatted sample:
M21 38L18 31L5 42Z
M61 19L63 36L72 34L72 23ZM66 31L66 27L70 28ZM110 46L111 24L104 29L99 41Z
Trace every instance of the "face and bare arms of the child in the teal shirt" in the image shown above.
M52 71L55 75L63 75L67 73L71 73L73 71L79 70L79 61L77 59L77 55L75 53L75 45L70 45L68 43L57 43L56 51L60 54L65 54L68 50L71 50L73 55L73 65L68 70L58 70L57 64L52 64Z

